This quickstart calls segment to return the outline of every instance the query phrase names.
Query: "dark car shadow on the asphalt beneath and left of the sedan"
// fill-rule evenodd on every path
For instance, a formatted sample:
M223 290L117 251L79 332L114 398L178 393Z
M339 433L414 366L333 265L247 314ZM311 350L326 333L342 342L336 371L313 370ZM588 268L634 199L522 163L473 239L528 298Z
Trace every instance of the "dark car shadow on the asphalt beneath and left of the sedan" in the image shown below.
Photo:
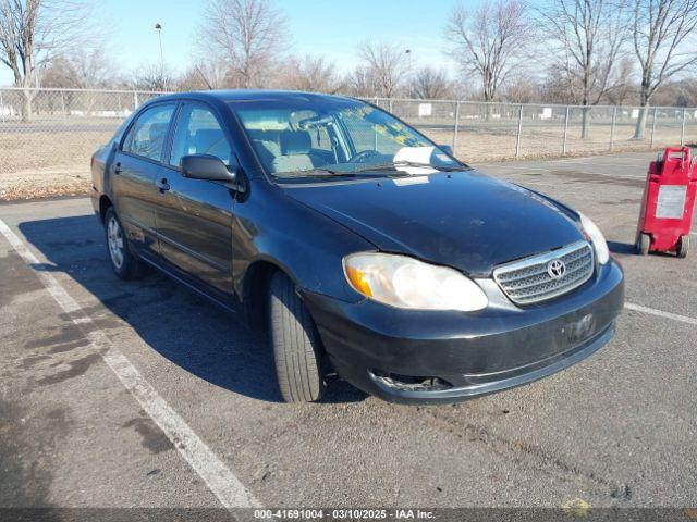
M118 278L94 215L27 221L19 228L47 259L34 270L63 272L91 294L98 302L85 312L107 333L123 323L96 319L102 307L150 348L198 378L255 399L282 401L265 333L250 332L235 314L154 270L138 281ZM330 403L367 397L339 378L331 380L327 391L322 401Z

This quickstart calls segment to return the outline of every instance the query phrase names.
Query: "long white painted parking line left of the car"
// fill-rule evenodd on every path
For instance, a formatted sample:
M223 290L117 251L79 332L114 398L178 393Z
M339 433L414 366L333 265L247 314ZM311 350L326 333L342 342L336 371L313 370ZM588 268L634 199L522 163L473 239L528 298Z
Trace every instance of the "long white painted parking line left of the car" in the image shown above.
M2 220L0 220L0 233L27 264L39 264L38 258ZM232 471L206 446L206 443L194 433L179 413L167 403L121 350L111 343L107 335L96 327L89 315L68 294L53 274L44 271L35 271L35 273L49 294L53 296L53 299L90 341L91 348L102 357L123 386L131 391L148 415L160 426L182 457L204 480L213 495L218 497L218 500L225 508L260 507L258 500L244 487Z

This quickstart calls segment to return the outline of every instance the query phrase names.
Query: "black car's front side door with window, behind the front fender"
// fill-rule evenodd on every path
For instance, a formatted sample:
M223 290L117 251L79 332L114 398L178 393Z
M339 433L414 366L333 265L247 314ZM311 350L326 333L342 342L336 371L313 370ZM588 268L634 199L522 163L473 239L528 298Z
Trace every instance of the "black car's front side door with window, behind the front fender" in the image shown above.
M221 182L181 174L187 154L211 154L236 164L233 148L213 110L182 103L157 204L160 254L185 275L232 297L232 210L234 191Z

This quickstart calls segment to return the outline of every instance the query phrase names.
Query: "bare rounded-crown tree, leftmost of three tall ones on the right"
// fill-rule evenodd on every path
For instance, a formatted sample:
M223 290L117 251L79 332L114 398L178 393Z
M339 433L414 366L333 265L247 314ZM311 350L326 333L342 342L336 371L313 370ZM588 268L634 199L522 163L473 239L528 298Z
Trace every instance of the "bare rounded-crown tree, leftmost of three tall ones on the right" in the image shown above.
M519 0L485 0L469 12L456 5L447 26L452 48L448 53L463 73L479 76L485 101L492 101L530 38L530 25Z

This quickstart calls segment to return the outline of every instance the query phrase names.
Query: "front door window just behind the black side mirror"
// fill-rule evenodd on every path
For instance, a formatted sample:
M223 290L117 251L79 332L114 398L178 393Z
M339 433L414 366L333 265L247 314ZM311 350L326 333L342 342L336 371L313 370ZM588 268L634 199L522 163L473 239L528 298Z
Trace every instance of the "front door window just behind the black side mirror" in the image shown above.
M228 166L233 164L230 142L213 113L200 105L184 105L179 116L170 164L180 166L188 154L210 154Z

